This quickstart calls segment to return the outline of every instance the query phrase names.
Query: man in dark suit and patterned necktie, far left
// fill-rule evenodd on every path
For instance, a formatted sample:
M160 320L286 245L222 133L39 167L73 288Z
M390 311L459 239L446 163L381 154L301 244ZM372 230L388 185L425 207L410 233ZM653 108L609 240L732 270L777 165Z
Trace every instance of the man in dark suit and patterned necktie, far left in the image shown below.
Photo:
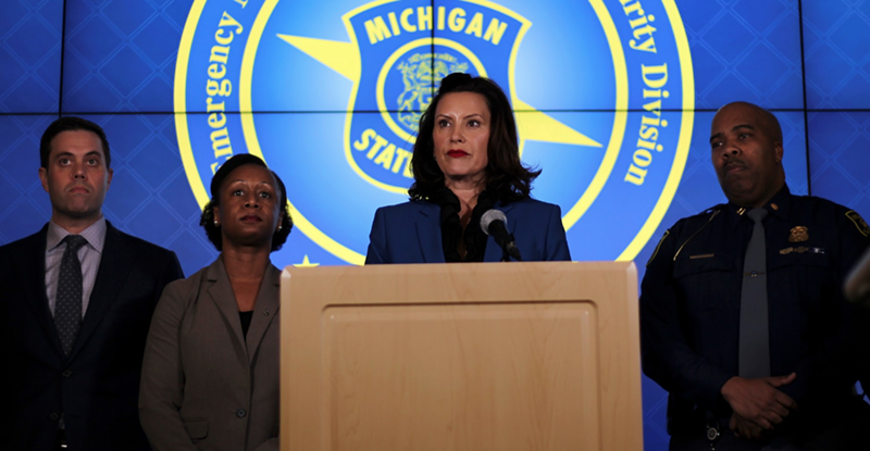
M137 402L142 352L174 252L102 215L105 134L61 117L42 135L51 221L0 247L0 449L148 450Z

